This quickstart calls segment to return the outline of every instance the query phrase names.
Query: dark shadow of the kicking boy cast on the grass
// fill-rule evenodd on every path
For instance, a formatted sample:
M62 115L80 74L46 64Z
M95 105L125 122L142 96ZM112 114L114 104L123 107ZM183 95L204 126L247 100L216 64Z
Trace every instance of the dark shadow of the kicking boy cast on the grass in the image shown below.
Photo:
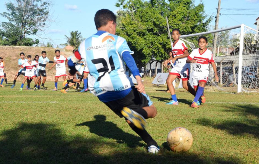
M76 126L88 126L91 133L101 137L115 139L117 140L117 143L126 143L129 147L135 147L136 143L138 146L144 146L142 143L139 143L139 141L141 141L141 137L125 133L123 130L118 128L115 123L106 121L106 116L95 115L94 118L94 121L87 121L77 124Z

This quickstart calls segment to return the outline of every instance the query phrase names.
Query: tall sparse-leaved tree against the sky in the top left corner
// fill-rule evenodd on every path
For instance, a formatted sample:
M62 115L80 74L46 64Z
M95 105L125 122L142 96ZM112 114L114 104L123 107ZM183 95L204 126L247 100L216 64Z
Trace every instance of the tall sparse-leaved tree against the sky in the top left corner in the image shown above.
M0 33L6 38L5 45L32 46L39 40L28 38L46 29L50 3L45 0L15 0L6 3L8 12L1 13L9 22L1 22ZM0 44L2 44L1 42Z

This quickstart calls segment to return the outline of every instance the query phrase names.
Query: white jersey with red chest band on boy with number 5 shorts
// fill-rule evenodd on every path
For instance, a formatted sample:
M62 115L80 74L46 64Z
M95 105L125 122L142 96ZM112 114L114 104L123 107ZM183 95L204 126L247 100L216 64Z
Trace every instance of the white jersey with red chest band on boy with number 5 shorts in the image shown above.
M204 52L200 52L200 49L194 49L188 56L189 60L196 60L197 63L193 63L192 75L195 77L205 76L209 74L209 64L214 62L212 52L209 49L205 49Z

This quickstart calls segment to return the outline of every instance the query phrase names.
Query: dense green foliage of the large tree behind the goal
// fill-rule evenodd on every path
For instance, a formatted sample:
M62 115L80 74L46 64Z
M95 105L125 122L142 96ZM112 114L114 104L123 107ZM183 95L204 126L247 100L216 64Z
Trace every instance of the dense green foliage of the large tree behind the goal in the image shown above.
M117 35L125 38L138 65L163 61L171 51L169 26L179 28L181 35L207 31L211 18L204 21L204 5L192 0L118 0Z

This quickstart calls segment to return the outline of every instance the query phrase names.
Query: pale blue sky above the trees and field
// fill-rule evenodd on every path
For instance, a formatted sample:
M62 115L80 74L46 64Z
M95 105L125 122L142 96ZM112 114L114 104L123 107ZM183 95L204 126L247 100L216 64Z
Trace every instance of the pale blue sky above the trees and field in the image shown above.
M0 13L6 11L4 4L7 2L8 0L1 0ZM96 32L93 21L96 11L106 8L116 13L119 10L118 7L115 7L116 2L117 0L55 0L51 9L54 22L41 35L43 39L40 39L40 42L46 44L47 41L51 41L56 47L58 44L66 42L64 35L69 36L69 31L75 30L81 32L84 38L89 37ZM201 0L195 0L195 4L200 2ZM217 13L218 0L202 0L202 2L205 5L207 17L213 17L211 25L215 25L214 17ZM259 16L259 0L221 0L221 8L219 27L231 27L244 23L256 28L253 24ZM0 21L7 21L7 19L0 16Z

